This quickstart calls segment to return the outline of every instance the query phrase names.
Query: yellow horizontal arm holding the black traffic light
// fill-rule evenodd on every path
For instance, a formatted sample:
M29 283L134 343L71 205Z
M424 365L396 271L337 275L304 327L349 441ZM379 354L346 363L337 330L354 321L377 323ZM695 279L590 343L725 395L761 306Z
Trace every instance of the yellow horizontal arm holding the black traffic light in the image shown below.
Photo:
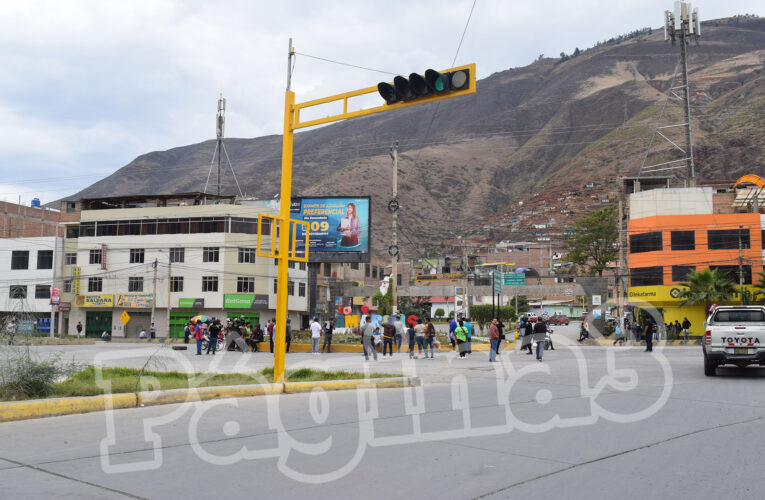
M435 101L441 101L443 99L450 99L452 97L460 97L467 94L475 94L476 91L476 84L475 84L475 63L473 64L467 64L465 66L458 66L456 68L450 68L443 70L441 73L451 73L454 71L459 70L469 70L469 76L470 76L470 83L469 85L460 90L454 90L452 92L447 92L443 94L434 94L428 97L421 97L415 100L411 101L402 101L397 102L395 104L383 104L381 106L376 106L374 108L369 109L359 109L357 111L348 111L348 99L351 97L358 97L366 94L377 94L378 88L377 86L374 87L367 87L365 89L359 89L359 90L352 90L350 92L344 92L342 94L333 95L330 97L323 97L321 99L314 99L313 101L306 101L303 103L295 104L294 111L295 111L295 118L292 123L292 130L297 130L301 128L306 127L313 127L316 125L323 125L325 123L332 123L337 122L341 120L347 120L348 118L357 118L359 116L367 116L372 115L375 113L381 113L383 111L391 111L394 109L401 109L406 108L409 106L414 106L416 104L425 104L427 102L435 102ZM327 104L330 102L336 102L336 101L343 101L343 112L336 114L336 115L329 115L324 118L317 118L315 120L309 120L305 122L300 121L300 110L311 108L314 106L319 106L321 104Z

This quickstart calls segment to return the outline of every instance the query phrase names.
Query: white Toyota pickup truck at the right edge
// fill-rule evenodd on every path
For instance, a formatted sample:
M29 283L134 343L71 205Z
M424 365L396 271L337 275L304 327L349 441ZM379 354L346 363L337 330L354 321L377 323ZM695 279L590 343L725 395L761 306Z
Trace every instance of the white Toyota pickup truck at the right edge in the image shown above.
M720 306L707 319L704 334L704 375L717 374L725 364L744 368L765 366L765 307Z

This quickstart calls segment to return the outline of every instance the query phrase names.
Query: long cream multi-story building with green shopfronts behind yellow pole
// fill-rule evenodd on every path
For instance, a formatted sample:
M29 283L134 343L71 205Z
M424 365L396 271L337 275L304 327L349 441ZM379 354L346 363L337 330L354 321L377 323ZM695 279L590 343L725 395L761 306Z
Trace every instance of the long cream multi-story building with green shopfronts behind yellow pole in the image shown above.
M67 212L79 210L63 243L62 301L72 306L62 322L69 334L81 322L89 336L131 338L153 320L158 336L181 336L197 314L244 316L253 324L275 316L275 261L258 257L256 245L258 214L278 208L202 193L64 203ZM271 227L261 229L270 248ZM307 294L305 264L291 262L295 327L306 321Z

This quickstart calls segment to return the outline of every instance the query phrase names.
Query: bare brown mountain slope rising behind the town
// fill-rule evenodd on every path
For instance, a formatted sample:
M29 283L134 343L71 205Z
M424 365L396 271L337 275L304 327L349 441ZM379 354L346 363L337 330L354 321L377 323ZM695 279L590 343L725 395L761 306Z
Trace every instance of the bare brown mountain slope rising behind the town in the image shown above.
M662 124L684 121L680 106L671 100L665 106L668 89L679 85L680 49L660 31L637 30L495 73L471 96L298 133L293 192L371 195L372 245L385 249L388 150L398 140L405 255L487 229L497 228L499 234L489 233L494 237L527 237L509 223L518 207L542 221L559 214L565 228L579 211L608 202L618 178L636 176L644 159L672 158L666 141L655 141L646 158L660 116ZM697 176L762 174L765 19L705 22L688 54ZM675 133L683 145L681 131ZM281 136L226 139L226 148L247 194L278 192ZM206 141L142 155L72 198L201 191L213 149L214 141ZM230 177L224 180L224 192L233 193ZM577 197L594 201L566 201Z

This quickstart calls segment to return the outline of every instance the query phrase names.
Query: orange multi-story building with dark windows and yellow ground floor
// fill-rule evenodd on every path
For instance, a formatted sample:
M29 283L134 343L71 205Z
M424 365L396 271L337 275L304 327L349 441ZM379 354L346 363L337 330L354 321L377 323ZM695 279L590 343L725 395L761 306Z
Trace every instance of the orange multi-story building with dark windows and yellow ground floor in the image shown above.
M666 323L687 317L701 335L704 304L682 306L689 271L716 268L745 290L763 266L765 217L737 203L738 193L714 187L669 188L630 195L628 302L655 308ZM738 287L737 287L738 288ZM747 293L746 291L744 292ZM740 296L736 297L736 301Z

